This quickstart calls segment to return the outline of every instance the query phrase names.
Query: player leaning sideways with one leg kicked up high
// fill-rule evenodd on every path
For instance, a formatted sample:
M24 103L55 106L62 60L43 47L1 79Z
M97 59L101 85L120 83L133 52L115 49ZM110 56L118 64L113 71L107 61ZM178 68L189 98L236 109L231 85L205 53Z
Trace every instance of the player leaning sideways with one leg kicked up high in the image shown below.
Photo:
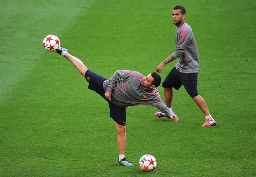
M137 71L118 70L110 79L106 79L89 70L80 59L69 54L67 49L60 47L56 52L66 57L77 68L89 83L89 89L108 101L110 117L114 120L117 129L119 164L133 166L125 158L126 107L152 105L164 112L168 118L178 122L179 118L163 103L155 88L161 83L161 77L157 73L143 76Z

